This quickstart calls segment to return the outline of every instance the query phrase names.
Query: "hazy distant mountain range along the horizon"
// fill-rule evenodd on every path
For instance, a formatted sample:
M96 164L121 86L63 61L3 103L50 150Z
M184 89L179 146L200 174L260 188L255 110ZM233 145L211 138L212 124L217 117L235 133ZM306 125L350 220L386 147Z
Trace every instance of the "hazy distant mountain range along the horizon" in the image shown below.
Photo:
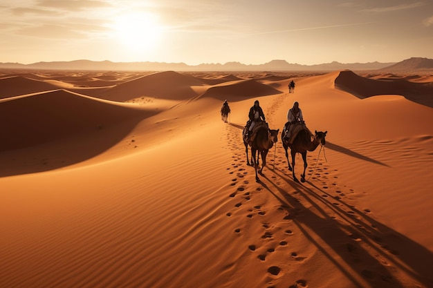
M240 62L225 64L199 64L190 66L185 63L164 62L112 62L112 61L53 61L33 64L1 63L0 68L40 69L40 70L146 70L146 71L334 71L334 70L430 70L433 59L413 57L401 62L368 62L343 64L336 61L327 64L291 64L285 60L272 60L265 64L247 65Z

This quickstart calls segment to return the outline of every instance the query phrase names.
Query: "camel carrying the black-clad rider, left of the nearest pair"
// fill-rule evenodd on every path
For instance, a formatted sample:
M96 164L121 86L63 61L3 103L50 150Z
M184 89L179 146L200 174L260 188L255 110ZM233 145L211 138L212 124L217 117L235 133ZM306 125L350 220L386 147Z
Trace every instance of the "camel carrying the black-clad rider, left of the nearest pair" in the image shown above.
M245 139L246 128L243 129L242 137L243 144L245 145L246 152L246 162L248 165L254 166L256 173L256 181L259 182L259 176L257 175L257 169L259 168L259 155L261 155L261 169L259 169L260 175L263 175L264 166L266 166L266 155L268 155L268 151L274 143L278 141L278 133L279 129L271 130L268 128L267 124L260 126L257 128L257 132L255 137L252 139L250 143L251 146L251 164L248 160L248 143Z

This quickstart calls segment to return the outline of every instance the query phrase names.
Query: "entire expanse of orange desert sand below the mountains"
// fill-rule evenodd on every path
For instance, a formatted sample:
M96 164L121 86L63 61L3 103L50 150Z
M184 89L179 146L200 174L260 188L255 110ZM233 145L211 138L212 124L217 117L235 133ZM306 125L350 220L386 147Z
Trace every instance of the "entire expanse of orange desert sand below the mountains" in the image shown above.
M255 99L327 131L306 182L281 140L256 182ZM432 108L410 73L0 71L0 287L433 287Z

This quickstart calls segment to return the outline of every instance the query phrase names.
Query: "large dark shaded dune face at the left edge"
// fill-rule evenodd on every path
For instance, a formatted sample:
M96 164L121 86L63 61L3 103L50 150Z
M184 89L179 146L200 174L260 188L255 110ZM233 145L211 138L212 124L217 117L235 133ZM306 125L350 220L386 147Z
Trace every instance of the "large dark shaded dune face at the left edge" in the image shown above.
M158 108L108 102L66 90L3 99L0 153L3 160L12 162L1 167L0 176L52 170L89 159L158 112Z

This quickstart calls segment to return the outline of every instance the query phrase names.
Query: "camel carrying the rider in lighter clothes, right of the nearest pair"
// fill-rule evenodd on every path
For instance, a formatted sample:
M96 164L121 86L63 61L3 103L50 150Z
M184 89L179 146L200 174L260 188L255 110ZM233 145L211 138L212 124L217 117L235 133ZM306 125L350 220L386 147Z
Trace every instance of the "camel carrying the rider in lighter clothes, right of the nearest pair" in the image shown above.
M281 136L282 136L284 151L286 151L288 170L293 171L293 180L295 182L299 182L297 180L297 177L295 176L295 155L296 155L296 153L300 153L302 155L302 160L304 160L304 173L301 174L301 182L305 182L305 170L306 170L306 167L308 166L308 164L306 163L306 151L315 151L315 148L317 148L317 146L319 146L319 144L320 145L326 144L326 141L325 141L326 133L328 133L328 131L325 131L325 132L315 131L313 141L311 141L311 136L313 136L313 135L311 134L310 131L308 131L308 129L305 128L305 129L301 130L299 133L297 133L297 135L295 135L295 139L293 139L293 143L289 144L288 141L284 139L284 136L286 135L286 129L283 129ZM287 153L288 147L291 148L293 169L291 167L290 162L288 161L288 153Z

